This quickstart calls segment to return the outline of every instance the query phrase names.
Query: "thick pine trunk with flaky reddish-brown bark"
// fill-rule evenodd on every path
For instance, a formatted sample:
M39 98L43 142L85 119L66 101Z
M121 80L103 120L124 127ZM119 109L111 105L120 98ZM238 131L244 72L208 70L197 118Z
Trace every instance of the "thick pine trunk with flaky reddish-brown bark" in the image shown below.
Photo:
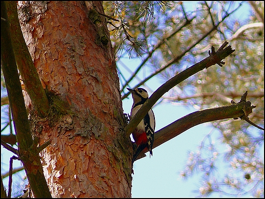
M86 6L87 4L87 6ZM102 2L19 3L21 29L50 100L30 100L31 128L53 197L130 197L131 143Z

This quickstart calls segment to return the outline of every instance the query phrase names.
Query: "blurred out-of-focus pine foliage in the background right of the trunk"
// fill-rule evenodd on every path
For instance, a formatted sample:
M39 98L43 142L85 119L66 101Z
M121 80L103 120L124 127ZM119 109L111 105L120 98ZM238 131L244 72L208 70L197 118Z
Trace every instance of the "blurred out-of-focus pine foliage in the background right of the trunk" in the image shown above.
M143 2L104 2L105 14L117 16L117 24L121 21L130 24L125 30L139 41L137 45L142 45L136 46L135 51L129 49L133 45L125 42L124 30L110 29L118 58L126 57L126 53L129 58L142 56L137 70L123 66L131 76L126 77L118 68L122 99L129 83L148 87L146 82L153 76L165 82L206 58L212 45L218 49L228 41L235 52L224 60L223 67L210 67L193 75L164 95L162 102L204 109L228 105L231 100L237 103L248 91L247 100L257 105L249 119L264 127L264 3L153 2L143 12L144 5ZM242 6L250 8L248 16L239 11ZM141 71L145 71L144 79ZM153 75L152 71L158 72ZM248 193L263 197L264 167L260 151L264 131L240 119L215 121L210 125L218 129L219 135L210 132L198 151L190 152L180 175L183 178L195 173L201 175L198 196ZM218 173L220 162L227 162L224 176Z

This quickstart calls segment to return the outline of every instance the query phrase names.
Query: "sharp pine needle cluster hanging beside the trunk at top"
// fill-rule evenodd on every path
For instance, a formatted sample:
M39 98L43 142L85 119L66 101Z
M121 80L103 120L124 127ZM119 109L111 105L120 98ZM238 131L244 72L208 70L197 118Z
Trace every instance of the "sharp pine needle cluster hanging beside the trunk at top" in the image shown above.
M116 55L120 58L123 50L130 58L139 58L147 53L146 40L141 30L154 18L154 7L164 9L169 6L165 2L104 2L105 14L116 17L116 20L109 20L111 39ZM143 26L144 25L144 26Z

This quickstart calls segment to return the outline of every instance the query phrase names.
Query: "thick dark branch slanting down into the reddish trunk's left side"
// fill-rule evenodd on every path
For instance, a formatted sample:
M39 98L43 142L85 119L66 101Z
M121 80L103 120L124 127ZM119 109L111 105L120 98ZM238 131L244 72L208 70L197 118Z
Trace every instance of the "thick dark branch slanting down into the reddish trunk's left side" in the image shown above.
M44 117L49 109L49 101L41 85L39 75L33 64L30 52L23 38L17 14L17 3L6 2L12 46L20 75L25 84L34 108L40 117Z

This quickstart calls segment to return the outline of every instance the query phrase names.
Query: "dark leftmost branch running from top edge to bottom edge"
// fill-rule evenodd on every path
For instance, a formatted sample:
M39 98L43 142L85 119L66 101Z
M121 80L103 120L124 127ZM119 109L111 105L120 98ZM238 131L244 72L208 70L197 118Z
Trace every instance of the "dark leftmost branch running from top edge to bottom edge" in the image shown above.
M19 159L22 160L26 176L36 197L51 197L43 175L37 146L33 145L28 115L22 95L6 11L6 2L1 2L1 65L5 77L9 104L18 143Z

